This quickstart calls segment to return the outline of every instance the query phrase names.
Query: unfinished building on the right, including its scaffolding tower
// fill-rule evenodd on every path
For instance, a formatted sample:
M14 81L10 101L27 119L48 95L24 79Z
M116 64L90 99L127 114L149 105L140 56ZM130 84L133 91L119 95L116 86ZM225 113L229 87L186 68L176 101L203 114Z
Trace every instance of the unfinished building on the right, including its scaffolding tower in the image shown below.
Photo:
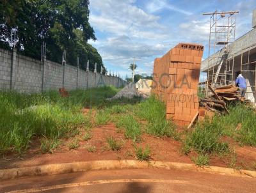
M209 58L202 61L201 72L207 73L212 88L234 84L241 73L246 79L246 99L256 98L256 10L252 30L236 38L238 11L204 13L211 17Z

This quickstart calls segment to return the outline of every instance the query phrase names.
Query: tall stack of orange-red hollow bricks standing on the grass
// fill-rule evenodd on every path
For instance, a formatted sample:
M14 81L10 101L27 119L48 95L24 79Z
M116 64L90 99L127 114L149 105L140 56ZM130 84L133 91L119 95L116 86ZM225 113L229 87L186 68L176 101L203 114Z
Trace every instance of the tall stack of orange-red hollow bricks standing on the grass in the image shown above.
M166 104L166 118L189 125L198 113L197 95L204 46L179 43L154 62L152 93Z

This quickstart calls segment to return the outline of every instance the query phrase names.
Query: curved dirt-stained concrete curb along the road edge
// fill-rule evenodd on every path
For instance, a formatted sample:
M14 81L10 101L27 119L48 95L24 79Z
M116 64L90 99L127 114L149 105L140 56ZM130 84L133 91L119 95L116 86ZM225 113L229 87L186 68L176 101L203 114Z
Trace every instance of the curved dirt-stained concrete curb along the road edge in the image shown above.
M64 164L49 164L32 167L19 167L12 169L1 169L0 179L10 180L22 176L45 176L53 174L67 174L104 169L180 169L183 171L198 171L202 173L221 174L229 176L256 178L256 171L236 170L226 167L197 167L194 164L178 162L139 162L138 160L99 160L92 162L72 162Z

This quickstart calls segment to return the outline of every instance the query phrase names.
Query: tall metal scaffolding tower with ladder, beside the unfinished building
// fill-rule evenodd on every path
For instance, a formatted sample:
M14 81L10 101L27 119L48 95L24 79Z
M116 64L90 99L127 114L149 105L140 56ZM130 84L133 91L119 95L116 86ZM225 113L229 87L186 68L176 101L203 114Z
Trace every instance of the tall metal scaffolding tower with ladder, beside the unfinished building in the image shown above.
M230 51L228 45L234 42L236 38L236 13L239 11L203 13L203 15L211 16L207 84L210 84L212 88L232 84L234 78L234 61L231 65L232 68L230 65L227 68L227 56ZM213 65L211 66L211 64ZM209 95L210 93L207 85L205 94Z

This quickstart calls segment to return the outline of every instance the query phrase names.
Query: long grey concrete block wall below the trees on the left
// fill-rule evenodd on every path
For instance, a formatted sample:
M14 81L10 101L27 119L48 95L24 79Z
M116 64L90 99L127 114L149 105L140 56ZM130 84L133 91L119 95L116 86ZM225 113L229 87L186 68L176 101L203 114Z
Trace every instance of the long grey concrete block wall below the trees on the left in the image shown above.
M60 65L46 58L39 61L0 49L0 90L40 93L64 87L67 90L99 86L125 86L119 77L86 72L75 66Z

